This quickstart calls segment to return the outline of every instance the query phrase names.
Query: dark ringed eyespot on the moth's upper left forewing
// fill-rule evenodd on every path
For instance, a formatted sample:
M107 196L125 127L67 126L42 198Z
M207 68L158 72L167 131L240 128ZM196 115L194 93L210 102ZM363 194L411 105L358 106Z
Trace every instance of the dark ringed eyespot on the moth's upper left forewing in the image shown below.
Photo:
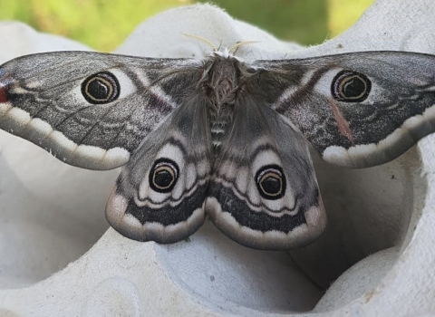
M97 72L82 82L82 95L92 104L109 103L120 96L120 83L111 72Z

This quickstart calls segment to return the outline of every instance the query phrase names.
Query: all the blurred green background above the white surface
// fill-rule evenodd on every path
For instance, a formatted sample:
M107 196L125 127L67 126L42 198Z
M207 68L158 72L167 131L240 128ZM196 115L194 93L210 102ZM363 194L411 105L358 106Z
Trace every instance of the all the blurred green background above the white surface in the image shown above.
M150 15L194 0L0 0L0 20L18 20L111 52ZM239 20L301 44L322 43L353 24L373 0L215 0Z

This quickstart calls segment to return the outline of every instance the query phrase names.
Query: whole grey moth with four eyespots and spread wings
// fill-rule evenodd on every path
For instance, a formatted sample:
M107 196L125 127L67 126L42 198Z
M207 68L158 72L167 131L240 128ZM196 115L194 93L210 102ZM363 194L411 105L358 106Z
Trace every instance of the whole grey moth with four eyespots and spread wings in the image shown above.
M56 52L0 66L0 128L79 168L122 166L106 216L175 243L206 216L257 249L314 241L326 216L310 147L367 168L435 130L435 57L361 52L244 62Z

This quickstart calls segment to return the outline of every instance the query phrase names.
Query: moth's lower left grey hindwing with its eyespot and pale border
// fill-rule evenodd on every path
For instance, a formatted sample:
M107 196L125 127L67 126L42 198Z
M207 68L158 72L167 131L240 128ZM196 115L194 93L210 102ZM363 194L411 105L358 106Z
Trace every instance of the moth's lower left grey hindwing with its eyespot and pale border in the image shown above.
M207 109L191 102L151 131L122 168L106 207L122 235L168 244L203 224L210 175Z

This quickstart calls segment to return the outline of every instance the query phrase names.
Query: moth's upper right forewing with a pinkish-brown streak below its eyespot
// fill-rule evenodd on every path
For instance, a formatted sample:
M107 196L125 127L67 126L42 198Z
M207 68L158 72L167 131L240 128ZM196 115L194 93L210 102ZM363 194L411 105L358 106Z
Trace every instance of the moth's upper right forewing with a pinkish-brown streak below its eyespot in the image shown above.
M258 61L257 81L323 159L367 168L435 131L435 56L359 52Z

